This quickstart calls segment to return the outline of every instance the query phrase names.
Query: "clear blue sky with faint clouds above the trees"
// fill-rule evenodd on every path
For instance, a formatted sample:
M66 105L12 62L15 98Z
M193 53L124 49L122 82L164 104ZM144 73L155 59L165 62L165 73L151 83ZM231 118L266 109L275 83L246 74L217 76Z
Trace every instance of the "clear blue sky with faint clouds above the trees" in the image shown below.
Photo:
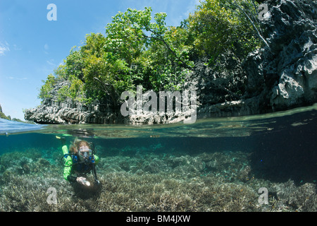
M49 4L57 20L48 20ZM91 32L105 34L111 17L127 8L151 6L153 15L167 13L167 25L194 12L199 0L1 0L0 1L0 105L11 118L24 120L23 109L40 105L42 80L70 49L81 46Z

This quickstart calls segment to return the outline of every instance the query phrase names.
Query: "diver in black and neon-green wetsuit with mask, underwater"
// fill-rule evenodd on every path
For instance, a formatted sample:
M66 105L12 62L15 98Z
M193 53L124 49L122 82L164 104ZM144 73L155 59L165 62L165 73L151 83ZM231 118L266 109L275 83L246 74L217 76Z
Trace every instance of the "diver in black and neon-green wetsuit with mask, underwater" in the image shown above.
M92 172L94 175L94 181L100 184L97 178L97 172L95 166L99 162L99 157L94 155L94 148L91 148L87 141L75 139L72 145L70 145L70 151L66 145L66 139L56 136L56 138L62 141L63 158L65 160L63 177L68 182L77 182L79 184L90 186L90 182L87 181L85 174ZM73 174L77 174L73 176Z

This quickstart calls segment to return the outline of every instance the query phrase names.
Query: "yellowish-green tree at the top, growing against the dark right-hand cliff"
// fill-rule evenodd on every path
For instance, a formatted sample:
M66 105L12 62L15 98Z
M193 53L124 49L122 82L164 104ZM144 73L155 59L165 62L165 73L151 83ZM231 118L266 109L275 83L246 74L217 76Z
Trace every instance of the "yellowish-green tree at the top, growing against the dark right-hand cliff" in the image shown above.
M245 12L254 11L250 0L206 0L189 16L189 29L196 39L194 47L209 64L225 52L243 59L261 46L259 37Z

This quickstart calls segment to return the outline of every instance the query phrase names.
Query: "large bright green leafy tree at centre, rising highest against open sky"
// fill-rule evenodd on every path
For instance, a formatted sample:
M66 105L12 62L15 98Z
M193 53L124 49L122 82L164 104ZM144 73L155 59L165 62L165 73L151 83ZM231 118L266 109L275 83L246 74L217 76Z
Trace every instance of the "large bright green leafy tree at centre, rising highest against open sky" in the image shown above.
M125 61L122 65L129 75L133 74L130 78L134 85L142 83L156 91L175 89L184 69L191 69L186 51L178 42L180 35L175 35L177 29L169 29L165 19L166 13L156 13L151 22L151 8L128 8L106 27L106 52L112 53L113 60Z

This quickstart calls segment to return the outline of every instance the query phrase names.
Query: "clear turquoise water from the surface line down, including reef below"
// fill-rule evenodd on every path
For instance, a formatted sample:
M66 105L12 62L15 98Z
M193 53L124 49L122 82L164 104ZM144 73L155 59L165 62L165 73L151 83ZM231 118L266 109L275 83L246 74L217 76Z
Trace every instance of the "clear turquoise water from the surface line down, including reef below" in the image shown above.
M195 124L0 119L0 210L316 211L316 125L316 105ZM63 179L56 136L67 145L74 138L94 143L101 186L87 189ZM268 194L259 192L263 187ZM49 188L56 203L48 201Z

